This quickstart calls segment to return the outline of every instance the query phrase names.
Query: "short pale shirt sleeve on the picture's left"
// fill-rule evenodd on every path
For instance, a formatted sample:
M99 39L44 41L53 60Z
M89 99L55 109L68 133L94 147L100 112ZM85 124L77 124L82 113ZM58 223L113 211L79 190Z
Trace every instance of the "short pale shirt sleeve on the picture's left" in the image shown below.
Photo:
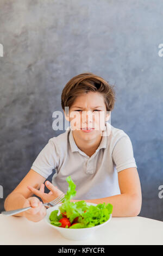
M49 139L48 144L41 150L32 164L31 169L48 178L52 174L53 169L59 165L59 154L55 145L54 138Z

